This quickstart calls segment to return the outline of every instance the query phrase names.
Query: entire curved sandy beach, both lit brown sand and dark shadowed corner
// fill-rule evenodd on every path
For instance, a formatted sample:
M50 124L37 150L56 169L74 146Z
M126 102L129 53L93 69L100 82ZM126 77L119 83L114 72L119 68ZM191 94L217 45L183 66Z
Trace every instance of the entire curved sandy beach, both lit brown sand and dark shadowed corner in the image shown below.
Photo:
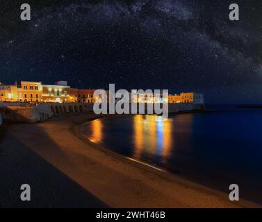
M260 207L93 146L79 128L94 117L9 126L0 146L0 207ZM31 202L19 200L23 183Z

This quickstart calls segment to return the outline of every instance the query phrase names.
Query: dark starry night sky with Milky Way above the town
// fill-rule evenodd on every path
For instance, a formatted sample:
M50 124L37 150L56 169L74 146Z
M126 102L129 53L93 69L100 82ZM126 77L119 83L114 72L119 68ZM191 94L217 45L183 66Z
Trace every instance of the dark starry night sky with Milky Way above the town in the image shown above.
M31 21L20 19L22 3ZM262 103L262 2L1 0L0 80L15 79Z

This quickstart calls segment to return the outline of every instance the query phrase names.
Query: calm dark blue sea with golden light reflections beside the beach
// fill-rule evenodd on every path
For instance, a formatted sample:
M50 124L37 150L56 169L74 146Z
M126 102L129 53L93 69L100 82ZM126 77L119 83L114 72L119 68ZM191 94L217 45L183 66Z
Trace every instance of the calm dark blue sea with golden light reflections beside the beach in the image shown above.
M84 134L112 151L203 185L262 203L262 110L227 108L177 114L97 119Z

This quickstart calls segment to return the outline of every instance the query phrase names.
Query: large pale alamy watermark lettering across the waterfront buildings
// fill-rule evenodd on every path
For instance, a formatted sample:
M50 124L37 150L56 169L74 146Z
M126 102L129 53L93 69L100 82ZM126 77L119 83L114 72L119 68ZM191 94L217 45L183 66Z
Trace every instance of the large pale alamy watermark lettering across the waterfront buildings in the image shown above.
M109 84L109 90L97 89L94 92L95 114L158 114L168 117L168 89L119 89Z

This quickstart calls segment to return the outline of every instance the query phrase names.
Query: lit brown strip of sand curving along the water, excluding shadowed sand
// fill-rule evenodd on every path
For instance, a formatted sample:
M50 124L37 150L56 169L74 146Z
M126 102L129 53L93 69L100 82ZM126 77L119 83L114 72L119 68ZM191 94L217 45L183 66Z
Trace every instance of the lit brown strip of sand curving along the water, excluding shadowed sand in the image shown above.
M8 133L108 207L261 207L247 200L231 202L221 191L88 144L77 128L101 117L112 116L64 114L44 123L15 124Z

